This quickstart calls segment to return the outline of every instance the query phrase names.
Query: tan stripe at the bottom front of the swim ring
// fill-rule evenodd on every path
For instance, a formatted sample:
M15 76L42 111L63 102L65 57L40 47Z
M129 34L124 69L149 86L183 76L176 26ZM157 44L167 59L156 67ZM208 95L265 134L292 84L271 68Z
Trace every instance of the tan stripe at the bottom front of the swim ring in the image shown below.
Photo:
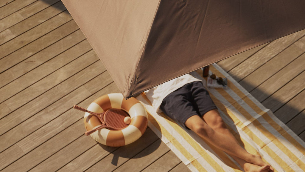
M119 147L125 145L124 135L121 130L109 130L106 145L112 147Z

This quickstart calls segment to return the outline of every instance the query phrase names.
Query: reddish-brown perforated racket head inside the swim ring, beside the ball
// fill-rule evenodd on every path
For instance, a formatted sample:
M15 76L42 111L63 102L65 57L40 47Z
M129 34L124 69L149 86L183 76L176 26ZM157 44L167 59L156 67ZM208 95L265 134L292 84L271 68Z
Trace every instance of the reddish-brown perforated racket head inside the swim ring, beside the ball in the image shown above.
M111 108L104 114L105 127L112 130L121 130L128 125L124 122L124 118L129 116L125 110Z

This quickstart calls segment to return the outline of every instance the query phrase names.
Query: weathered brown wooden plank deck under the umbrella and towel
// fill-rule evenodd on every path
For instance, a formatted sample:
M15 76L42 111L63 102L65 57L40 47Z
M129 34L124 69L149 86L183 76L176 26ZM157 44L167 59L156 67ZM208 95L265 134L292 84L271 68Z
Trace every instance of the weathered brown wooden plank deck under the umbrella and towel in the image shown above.
M218 64L305 140L305 30ZM0 0L1 171L188 171L148 128L110 148L84 135L83 113L119 92L59 0Z

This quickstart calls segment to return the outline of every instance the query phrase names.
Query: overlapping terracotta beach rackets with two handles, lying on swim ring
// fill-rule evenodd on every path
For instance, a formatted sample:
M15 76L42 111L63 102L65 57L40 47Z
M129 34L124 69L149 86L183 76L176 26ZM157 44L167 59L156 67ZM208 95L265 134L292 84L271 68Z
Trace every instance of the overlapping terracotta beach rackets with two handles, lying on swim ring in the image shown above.
M95 112L91 112L85 108L79 107L77 105L74 105L73 108L90 113L91 115L97 117L100 120L100 122L102 123L101 125L97 125L93 129L86 131L85 132L86 136L88 136L91 133L95 132L96 130L99 130L102 128L107 128L107 129L111 129L111 130L121 130L128 126L124 122L124 118L129 115L124 110L111 108L111 109L106 110L106 112L95 113Z

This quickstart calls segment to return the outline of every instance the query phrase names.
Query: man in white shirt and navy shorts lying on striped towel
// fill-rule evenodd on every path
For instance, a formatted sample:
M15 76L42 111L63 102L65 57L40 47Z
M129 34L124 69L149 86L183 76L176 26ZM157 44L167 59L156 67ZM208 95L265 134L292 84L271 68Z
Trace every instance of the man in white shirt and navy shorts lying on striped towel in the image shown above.
M152 107L231 155L246 172L273 171L259 155L252 155L239 145L201 80L193 75L189 73L145 91Z

